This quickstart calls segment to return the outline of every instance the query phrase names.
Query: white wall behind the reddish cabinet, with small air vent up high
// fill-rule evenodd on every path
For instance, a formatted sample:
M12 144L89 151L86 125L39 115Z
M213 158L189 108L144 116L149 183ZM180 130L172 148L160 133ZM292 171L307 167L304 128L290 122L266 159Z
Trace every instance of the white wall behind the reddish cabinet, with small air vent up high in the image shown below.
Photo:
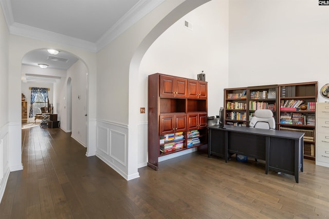
M192 30L184 26L187 21ZM148 75L163 73L208 82L208 114L218 115L228 86L228 1L212 0L186 14L161 34L143 56L139 69L139 106L148 109ZM148 112L139 114L138 165L147 164ZM145 141L142 141L142 140Z

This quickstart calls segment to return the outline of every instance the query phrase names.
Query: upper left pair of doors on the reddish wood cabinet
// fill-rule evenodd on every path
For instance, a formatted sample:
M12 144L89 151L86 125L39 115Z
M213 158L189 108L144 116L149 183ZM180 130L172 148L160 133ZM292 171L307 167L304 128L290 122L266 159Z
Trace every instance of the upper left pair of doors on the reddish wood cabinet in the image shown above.
M186 98L187 79L170 75L160 75L160 96Z

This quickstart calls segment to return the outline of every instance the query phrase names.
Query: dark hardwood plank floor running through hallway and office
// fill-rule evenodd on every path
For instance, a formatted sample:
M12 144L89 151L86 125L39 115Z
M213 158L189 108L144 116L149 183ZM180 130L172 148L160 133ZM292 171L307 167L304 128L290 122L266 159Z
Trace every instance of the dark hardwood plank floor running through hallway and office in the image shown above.
M0 218L328 218L329 168L304 160L299 182L264 165L192 153L125 181L59 128L22 130Z

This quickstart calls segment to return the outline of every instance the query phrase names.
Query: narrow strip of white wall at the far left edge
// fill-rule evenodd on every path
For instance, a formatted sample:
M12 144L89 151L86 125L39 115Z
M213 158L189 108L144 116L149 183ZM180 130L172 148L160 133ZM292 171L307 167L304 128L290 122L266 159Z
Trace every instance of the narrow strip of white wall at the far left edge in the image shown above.
M9 177L9 32L0 7L0 201ZM21 107L21 106L20 106Z

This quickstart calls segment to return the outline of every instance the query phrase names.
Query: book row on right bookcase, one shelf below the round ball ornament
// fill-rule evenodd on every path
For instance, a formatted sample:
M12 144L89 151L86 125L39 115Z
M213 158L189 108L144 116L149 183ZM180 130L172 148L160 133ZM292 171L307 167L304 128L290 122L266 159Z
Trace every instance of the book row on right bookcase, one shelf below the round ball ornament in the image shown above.
M291 112L281 112L280 113L280 123L281 124L291 124L291 125L315 125L315 114L302 114L302 113L291 113Z

